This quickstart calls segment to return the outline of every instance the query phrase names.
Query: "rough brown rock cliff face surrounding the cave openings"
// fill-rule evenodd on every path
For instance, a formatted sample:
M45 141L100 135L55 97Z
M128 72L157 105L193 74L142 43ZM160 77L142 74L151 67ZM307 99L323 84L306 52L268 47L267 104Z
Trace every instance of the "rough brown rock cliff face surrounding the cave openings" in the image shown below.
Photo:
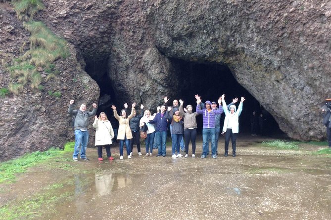
M69 100L92 104L99 94L83 70L96 81L108 78L119 103L140 101L152 108L164 95L180 91L180 71L173 58L229 67L287 135L299 140L325 136L319 103L331 95L328 0L44 0L44 4L36 19L65 38L72 53L56 62L59 78L45 83L46 91L55 86L63 95L58 99L26 89L1 99L0 114L5 118L1 159L60 146L71 137ZM28 33L8 4L0 6L5 18L0 30L3 59L4 54L18 55L15 51ZM7 26L13 29L8 31ZM0 71L1 87L6 87L7 73L3 67ZM14 116L6 116L8 112ZM18 146L21 150L12 150Z

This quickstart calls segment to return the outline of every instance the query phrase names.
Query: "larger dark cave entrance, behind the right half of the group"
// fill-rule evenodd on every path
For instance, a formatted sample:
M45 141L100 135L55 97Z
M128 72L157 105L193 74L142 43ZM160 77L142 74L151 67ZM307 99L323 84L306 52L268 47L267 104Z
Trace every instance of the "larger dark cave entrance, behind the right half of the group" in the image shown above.
M239 117L240 133L250 134L251 132L251 115L253 111L259 116L263 113L265 124L263 133L265 135L283 134L278 123L273 116L260 105L260 103L237 81L230 69L217 63L193 63L178 59L171 59L172 63L178 70L179 77L179 96L176 99L182 98L184 106L194 105L196 100L194 94L201 96L202 102L207 100L217 102L218 98L225 94L227 104L232 102L233 98L238 98L236 107L238 107L241 96L245 97L243 110ZM174 98L173 98L174 99ZM170 99L172 102L173 99ZM225 115L221 117L221 129ZM198 131L201 132L202 117L197 117ZM258 127L258 130L259 127ZM260 131L258 132L258 134Z

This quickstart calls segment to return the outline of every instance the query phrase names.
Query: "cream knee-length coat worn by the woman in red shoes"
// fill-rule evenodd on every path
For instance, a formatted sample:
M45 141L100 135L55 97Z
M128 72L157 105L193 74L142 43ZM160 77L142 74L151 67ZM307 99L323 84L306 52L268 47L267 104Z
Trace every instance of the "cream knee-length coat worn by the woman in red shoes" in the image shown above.
M95 146L111 145L112 138L115 136L110 121L95 119L93 127L95 131Z

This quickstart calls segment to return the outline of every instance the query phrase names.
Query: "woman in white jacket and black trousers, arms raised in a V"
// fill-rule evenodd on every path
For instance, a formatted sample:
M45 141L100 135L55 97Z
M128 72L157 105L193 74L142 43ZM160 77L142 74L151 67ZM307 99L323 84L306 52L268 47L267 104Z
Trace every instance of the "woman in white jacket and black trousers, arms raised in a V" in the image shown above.
M232 141L232 156L236 156L236 138L239 132L239 115L242 111L242 103L245 101L244 97L241 97L238 110L236 110L235 105L231 105L229 110L227 104L225 103L225 95L222 95L222 109L225 113L223 132L225 132L225 152L224 156L228 156L229 142L230 138Z

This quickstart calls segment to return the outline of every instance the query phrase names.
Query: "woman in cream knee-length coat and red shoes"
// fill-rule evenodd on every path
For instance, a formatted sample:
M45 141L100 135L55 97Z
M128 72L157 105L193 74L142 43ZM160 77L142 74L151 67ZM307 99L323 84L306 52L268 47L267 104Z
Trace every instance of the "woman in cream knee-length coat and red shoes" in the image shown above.
M99 118L95 115L93 127L96 128L95 132L95 147L97 147L98 160L102 161L102 147L106 148L107 158L113 160L114 158L110 153L110 145L114 138L113 127L107 118L106 113L101 112Z

